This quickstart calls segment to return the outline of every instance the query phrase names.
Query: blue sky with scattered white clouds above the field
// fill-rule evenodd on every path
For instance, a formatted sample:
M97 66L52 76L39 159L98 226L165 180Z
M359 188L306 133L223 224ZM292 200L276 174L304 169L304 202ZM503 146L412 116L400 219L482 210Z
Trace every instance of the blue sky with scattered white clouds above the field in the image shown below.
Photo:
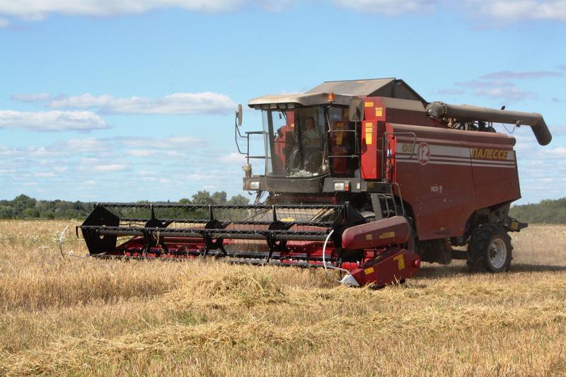
M566 196L566 1L456 4L0 0L0 198L243 193L238 103L393 76L429 101L541 112L550 145L514 131L519 203Z

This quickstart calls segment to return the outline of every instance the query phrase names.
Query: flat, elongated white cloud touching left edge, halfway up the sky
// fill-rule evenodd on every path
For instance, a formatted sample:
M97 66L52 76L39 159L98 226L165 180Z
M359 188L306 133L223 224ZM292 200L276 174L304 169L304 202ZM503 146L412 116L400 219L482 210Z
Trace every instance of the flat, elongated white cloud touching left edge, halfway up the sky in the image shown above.
M0 128L30 131L90 131L110 127L100 116L88 111L20 112L0 110Z

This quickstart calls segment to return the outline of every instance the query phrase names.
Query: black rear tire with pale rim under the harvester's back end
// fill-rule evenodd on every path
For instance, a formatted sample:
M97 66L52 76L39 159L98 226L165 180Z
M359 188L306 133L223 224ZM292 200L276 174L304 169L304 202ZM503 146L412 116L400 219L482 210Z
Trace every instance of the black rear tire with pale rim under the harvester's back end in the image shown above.
M470 272L504 272L511 266L511 237L499 224L483 224L475 229L468 243Z

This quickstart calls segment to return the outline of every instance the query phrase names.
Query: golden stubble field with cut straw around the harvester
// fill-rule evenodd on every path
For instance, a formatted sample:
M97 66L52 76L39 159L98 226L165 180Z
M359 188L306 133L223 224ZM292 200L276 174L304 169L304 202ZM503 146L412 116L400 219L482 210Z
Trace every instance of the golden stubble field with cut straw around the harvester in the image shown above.
M67 224L0 222L2 374L566 374L566 226L514 235L508 274L425 265L374 291L304 269L63 260Z

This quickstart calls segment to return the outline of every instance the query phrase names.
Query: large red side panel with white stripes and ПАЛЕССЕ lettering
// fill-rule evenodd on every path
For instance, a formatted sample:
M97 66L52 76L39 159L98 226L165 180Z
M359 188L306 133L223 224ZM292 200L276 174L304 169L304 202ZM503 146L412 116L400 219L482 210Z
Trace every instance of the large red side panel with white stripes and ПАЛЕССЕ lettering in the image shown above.
M519 199L507 135L388 124L394 180L411 204L420 240L461 236L476 209ZM414 149L414 150L413 150Z

